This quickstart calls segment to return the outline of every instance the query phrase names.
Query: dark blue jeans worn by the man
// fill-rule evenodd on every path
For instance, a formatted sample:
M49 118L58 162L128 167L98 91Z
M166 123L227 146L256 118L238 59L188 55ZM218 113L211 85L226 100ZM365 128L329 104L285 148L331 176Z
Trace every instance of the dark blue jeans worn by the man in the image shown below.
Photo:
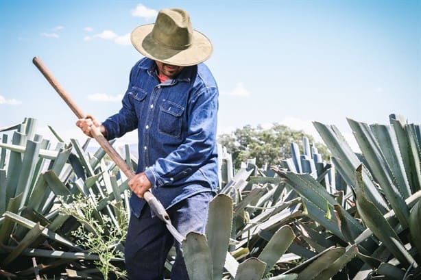
M167 209L173 226L183 236L190 231L204 234L211 199L212 192L200 192ZM173 244L173 236L165 223L156 216L152 218L148 205L143 207L139 218L131 215L125 240L125 268L130 280L164 279L165 259ZM171 280L188 280L189 275L178 242L176 253Z

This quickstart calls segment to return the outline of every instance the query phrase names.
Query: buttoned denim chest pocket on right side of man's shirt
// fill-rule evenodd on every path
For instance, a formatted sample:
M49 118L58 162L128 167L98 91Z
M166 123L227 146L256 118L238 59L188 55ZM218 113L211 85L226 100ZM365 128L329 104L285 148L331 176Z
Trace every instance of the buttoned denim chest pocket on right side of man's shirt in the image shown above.
M158 116L158 130L160 133L180 138L183 112L184 107L171 101L161 104Z

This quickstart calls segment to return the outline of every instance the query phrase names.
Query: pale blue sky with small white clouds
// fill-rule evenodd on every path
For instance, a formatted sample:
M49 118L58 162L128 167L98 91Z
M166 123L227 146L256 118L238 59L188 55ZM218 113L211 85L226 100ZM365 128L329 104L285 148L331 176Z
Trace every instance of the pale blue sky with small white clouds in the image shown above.
M84 139L75 116L32 64L38 55L86 113L119 110L138 25L184 8L213 42L219 131L311 121L421 123L421 1L0 1L0 128L38 119ZM53 136L46 136L52 139ZM135 142L130 133L123 142ZM354 144L352 144L354 145Z

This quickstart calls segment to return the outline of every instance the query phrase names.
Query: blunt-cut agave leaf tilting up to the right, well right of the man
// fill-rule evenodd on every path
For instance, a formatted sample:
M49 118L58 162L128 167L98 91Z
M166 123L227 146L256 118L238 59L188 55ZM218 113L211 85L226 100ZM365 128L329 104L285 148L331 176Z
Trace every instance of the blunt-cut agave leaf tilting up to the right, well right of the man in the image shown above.
M287 225L281 227L274 233L274 236L269 240L262 253L258 255L258 259L266 263L264 275L272 269L280 256L287 251L294 238L296 238L295 234L291 227Z

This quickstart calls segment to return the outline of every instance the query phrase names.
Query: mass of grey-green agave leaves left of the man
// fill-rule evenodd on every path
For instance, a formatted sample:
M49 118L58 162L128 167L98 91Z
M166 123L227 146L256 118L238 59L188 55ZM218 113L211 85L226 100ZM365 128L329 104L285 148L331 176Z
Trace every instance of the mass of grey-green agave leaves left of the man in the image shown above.
M86 276L77 268L92 264L94 279L107 279L110 270L123 276L127 181L102 149L87 153L77 140L64 144L59 137L51 148L36 125L25 118L2 129L8 133L0 143L0 275L33 279L34 258L41 274ZM78 227L84 230L75 236ZM92 242L101 247L92 250Z

